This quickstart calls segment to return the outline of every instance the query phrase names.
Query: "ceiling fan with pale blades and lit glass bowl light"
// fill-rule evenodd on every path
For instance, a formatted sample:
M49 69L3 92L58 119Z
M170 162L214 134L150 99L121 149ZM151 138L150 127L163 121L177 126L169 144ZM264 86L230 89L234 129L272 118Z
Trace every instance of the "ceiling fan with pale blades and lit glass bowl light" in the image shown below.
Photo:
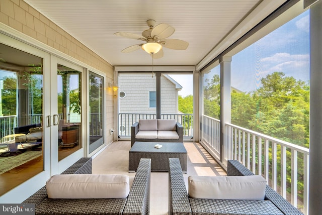
M172 26L165 23L161 23L154 27L154 20L147 20L146 24L149 27L149 29L143 31L142 36L128 32L114 33L114 35L116 36L145 41L145 43L127 47L123 49L121 52L129 53L142 48L144 51L151 54L152 58L157 59L163 57L163 47L175 50L187 49L189 43L186 41L178 39L166 39L175 32L175 29Z

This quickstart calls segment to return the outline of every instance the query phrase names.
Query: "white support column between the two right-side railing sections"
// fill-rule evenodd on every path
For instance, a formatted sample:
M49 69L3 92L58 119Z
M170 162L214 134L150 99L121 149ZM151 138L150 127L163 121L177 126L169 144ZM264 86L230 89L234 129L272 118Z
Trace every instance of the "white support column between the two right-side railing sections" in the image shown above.
M231 56L219 58L220 64L220 161L227 165L228 131L225 123L230 123L230 62Z

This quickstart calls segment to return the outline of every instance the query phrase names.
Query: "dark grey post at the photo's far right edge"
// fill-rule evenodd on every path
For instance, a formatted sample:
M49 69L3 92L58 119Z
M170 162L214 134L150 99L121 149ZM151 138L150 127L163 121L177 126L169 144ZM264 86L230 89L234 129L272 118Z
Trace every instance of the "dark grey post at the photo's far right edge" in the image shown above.
M310 7L309 214L322 211L322 1Z

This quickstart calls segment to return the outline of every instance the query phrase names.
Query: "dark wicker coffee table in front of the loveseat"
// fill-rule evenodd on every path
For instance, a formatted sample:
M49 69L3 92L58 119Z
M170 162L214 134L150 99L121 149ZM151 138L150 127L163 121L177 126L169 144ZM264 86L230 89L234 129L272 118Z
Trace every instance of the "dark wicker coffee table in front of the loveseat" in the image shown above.
M155 144L162 148L154 148ZM151 158L151 171L169 171L169 158L179 158L187 173L187 150L183 143L135 142L129 151L129 172L136 171L141 158Z

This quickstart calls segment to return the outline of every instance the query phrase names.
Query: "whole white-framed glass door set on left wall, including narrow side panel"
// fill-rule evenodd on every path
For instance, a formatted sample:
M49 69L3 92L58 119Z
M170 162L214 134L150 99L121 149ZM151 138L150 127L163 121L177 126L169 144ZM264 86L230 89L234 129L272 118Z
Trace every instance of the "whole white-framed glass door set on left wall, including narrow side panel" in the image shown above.
M0 202L19 203L104 147L104 75L0 41Z

